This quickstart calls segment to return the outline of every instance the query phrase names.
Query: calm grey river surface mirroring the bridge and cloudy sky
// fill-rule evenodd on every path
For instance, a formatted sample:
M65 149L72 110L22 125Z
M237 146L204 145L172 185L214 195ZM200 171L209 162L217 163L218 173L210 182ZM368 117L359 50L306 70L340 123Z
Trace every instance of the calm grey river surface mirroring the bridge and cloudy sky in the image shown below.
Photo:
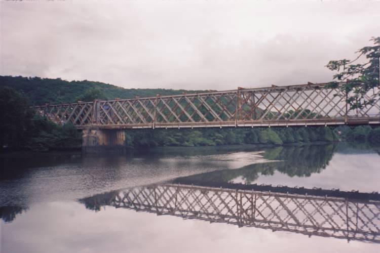
M194 211L214 208L230 212L223 210L218 196L229 201L234 192L210 191L206 194L208 198L206 190L197 190L198 185L208 183L236 188L242 184L264 184L379 191L379 164L378 148L346 145L161 148L127 155L57 153L1 157L0 251L379 252L377 202L352 202L345 211L345 202L318 202L309 196L302 200L284 199L265 193L262 203L267 203L268 208L257 206L263 216L268 213L267 219L289 222L293 214L301 212L297 203L321 208L330 204L331 210L339 213L341 209L343 214L352 216L352 224L348 225L355 226L357 231L368 230L366 236L372 240L363 240L358 232L346 237L334 231L309 236L299 232L308 228L302 221L297 229L288 231L260 228L247 220L253 209L252 213L243 214L236 206L231 209L238 217L238 221L230 221L233 224L215 222L215 217L201 218ZM193 184L195 190L182 185L168 186L178 182ZM242 196L249 200L253 195L248 195ZM284 203L279 206L278 200ZM176 205L178 201L182 201L180 207ZM250 203L253 204L253 198ZM171 204L173 208L169 211L159 207ZM136 212L146 206L149 209L144 209L145 212ZM180 215L174 215L175 212ZM318 210L311 213L310 221L325 219L324 224L344 221L337 213L331 218Z

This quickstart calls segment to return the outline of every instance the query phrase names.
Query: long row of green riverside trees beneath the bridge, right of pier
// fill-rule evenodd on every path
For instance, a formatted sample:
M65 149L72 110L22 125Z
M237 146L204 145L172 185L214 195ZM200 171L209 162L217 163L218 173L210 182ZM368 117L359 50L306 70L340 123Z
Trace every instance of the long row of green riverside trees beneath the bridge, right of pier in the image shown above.
M338 135L331 128L253 128L253 129L180 129L135 130L127 133L126 145L217 146L231 144L298 144L333 142Z

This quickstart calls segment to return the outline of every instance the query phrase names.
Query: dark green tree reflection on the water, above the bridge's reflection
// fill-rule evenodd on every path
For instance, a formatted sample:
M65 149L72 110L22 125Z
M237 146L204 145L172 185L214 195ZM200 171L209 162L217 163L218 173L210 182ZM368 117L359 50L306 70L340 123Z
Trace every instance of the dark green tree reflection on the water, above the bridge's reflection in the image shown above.
M265 151L264 157L277 162L255 163L237 170L223 170L179 178L176 182L229 182L243 177L246 183L255 181L259 174L273 175L275 171L290 177L310 177L320 173L331 160L335 145L288 146Z

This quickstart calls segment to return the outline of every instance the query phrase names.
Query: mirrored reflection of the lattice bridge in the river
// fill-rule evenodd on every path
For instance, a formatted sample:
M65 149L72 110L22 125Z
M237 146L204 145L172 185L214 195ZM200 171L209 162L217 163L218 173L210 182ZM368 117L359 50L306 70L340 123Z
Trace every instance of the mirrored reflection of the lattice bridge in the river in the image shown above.
M102 205L273 231L380 242L380 201L165 184L81 199Z

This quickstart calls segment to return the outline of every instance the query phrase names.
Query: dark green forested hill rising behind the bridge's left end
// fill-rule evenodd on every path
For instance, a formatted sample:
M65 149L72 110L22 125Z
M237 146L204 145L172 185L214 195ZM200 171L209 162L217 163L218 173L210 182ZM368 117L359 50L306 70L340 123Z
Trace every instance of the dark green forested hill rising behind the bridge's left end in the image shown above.
M40 78L23 76L0 76L0 88L10 87L28 98L30 105L45 103L71 103L99 99L152 97L157 94L176 95L183 92L201 92L167 89L124 89L98 81L65 81L60 78Z

